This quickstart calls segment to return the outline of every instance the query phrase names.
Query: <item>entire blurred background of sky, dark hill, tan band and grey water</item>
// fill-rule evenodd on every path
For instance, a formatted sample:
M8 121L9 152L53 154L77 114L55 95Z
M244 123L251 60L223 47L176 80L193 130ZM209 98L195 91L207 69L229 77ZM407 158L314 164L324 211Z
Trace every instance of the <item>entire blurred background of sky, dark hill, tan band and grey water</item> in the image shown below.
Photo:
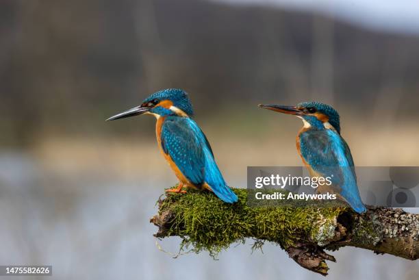
M418 77L411 0L1 0L0 264L52 265L46 279L323 279L252 240L218 261L160 251L149 218L176 179L155 120L104 120L183 88L245 187L246 166L301 165L301 121L257 104L317 100L340 112L358 166L418 166ZM418 262L334 255L328 279L418 279Z

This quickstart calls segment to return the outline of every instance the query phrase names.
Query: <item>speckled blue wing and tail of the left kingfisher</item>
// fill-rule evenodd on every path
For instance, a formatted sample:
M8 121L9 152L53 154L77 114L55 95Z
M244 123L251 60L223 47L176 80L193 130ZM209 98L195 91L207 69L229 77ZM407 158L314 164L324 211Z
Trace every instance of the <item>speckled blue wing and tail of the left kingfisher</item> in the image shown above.
M191 183L196 186L207 183L227 203L238 201L218 169L210 143L194 120L168 116L162 125L161 139L164 153L170 155Z

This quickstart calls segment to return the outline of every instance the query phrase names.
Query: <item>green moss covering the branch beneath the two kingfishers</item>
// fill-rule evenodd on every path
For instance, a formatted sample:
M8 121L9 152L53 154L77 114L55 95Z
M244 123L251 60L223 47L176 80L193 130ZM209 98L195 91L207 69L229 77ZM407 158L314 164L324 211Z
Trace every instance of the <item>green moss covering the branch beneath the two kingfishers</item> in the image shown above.
M296 242L325 242L334 232L336 216L348 211L345 207L251 207L246 189L233 191L239 197L233 205L211 192L168 194L160 205L160 213L175 214L168 236L181 236L182 249L205 250L213 256L249 237L286 249Z

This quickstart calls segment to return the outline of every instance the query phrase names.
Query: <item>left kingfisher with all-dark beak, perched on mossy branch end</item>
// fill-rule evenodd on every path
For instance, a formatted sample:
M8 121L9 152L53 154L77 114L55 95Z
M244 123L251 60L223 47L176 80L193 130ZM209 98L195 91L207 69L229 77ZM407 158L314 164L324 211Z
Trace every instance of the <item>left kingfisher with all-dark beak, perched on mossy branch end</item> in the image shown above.
M238 196L227 186L214 158L207 137L196 124L188 93L177 88L154 92L142 104L107 120L142 114L157 119L157 145L179 184L166 192L185 193L183 187L210 190L225 203L235 203Z

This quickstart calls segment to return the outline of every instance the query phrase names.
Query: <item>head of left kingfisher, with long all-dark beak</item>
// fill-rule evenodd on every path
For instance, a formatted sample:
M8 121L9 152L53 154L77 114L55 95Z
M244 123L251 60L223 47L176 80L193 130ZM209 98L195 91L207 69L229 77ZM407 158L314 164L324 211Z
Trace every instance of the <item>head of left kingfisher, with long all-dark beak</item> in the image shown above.
M141 114L153 114L156 118L160 116L182 116L192 117L194 112L188 94L177 88L168 88L151 94L142 101L140 106L116 114L107 120L118 120Z

